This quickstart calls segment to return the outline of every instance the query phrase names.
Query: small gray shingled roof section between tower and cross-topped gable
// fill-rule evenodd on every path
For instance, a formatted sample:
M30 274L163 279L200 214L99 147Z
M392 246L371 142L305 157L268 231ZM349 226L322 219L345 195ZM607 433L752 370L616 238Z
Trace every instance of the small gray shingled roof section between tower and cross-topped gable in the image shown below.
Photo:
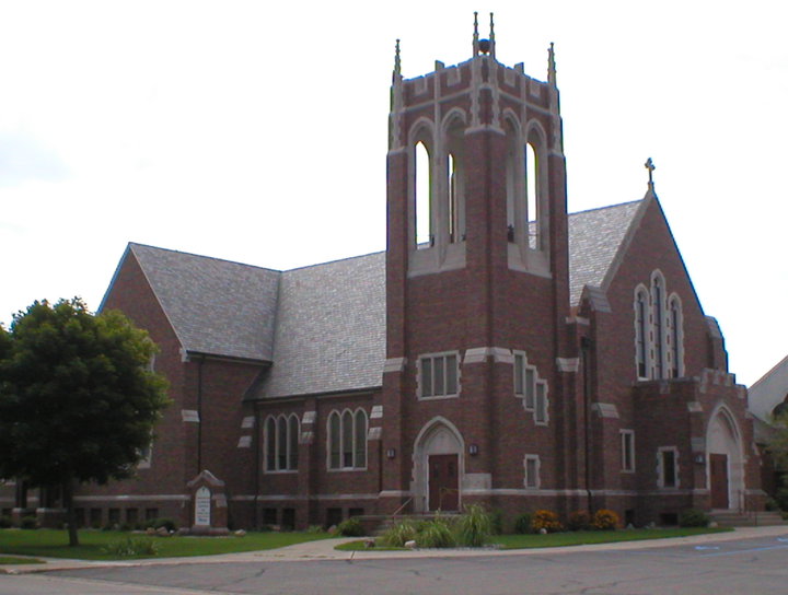
M569 215L569 300L580 301L583 287L601 287L642 200Z

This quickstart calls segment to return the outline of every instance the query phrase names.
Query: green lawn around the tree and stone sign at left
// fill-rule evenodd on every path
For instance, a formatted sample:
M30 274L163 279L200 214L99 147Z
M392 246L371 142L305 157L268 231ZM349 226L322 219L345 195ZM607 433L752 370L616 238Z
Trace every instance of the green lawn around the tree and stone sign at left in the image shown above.
M120 557L107 553L103 551L103 548L128 537L153 539L159 548L155 558L172 558L281 548L303 541L325 539L329 535L325 533L267 532L247 533L244 537L147 537L146 535L112 530L80 530L80 545L70 548L68 547L68 534L65 530L0 529L0 553L40 556L45 558L76 558L81 560L119 560ZM135 558L153 558L153 556L138 556Z

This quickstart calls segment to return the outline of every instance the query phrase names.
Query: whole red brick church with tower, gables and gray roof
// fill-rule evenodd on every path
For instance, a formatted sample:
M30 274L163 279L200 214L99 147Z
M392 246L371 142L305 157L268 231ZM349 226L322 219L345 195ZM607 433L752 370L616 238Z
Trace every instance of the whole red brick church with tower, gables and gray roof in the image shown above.
M173 405L83 522L762 510L746 389L650 160L642 199L567 212L553 49L531 78L490 21L406 80L397 45L391 96L384 253L278 271L128 245L102 308L149 330Z

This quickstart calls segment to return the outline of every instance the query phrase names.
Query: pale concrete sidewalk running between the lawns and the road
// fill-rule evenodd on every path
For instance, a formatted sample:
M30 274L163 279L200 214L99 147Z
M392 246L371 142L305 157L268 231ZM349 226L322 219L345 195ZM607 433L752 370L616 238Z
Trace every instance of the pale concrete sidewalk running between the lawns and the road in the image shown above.
M0 567L0 574L27 574L34 572L51 572L55 570L76 570L86 568L115 568L141 567L159 564L221 564L244 562L294 562L304 560L374 560L381 558L459 558L473 556L532 556L578 551L619 551L629 549L663 548L680 545L703 545L708 542L731 541L754 537L788 537L788 525L770 527L740 527L731 533L712 533L692 537L671 537L667 539L652 539L645 541L618 541L615 544L593 544L584 546L532 548L532 549L417 549L410 551L337 551L334 548L339 544L355 541L358 538L337 538L308 541L279 549L246 551L241 553L224 553L220 556L195 556L185 558L153 558L148 560L130 561L90 561L68 560L61 558L38 558L43 564L4 564ZM19 558L24 558L20 556Z

